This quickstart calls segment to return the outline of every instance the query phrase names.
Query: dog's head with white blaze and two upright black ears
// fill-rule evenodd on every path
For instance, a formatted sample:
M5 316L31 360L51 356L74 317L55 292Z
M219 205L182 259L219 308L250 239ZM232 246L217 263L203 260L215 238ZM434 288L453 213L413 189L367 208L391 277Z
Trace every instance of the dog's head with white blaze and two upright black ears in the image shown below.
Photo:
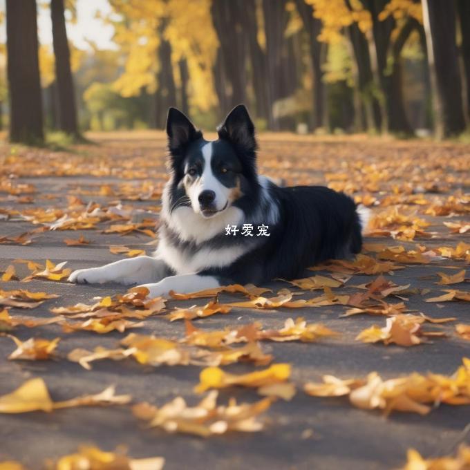
M256 179L254 125L243 104L236 106L208 142L178 109L167 120L173 194L170 212L191 206L203 218L223 214Z

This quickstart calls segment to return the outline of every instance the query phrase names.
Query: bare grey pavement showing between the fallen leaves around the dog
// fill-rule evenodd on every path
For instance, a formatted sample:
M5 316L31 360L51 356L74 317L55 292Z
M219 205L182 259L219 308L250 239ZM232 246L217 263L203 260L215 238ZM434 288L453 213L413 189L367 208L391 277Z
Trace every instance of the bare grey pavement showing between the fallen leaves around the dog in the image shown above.
M143 151L161 152L162 139L150 142ZM300 144L299 144L300 145ZM305 145L305 144L304 144ZM274 144L272 144L274 147ZM109 154L112 155L111 147ZM315 149L314 144L310 147ZM131 147L129 147L130 149ZM124 149L129 155L129 149ZM462 148L467 151L468 148ZM97 152L97 149L92 149ZM159 171L162 171L161 169ZM321 174L315 173L321 180ZM17 182L32 182L39 194L55 194L57 199L35 199L35 205L20 205L14 200L3 199L1 208L26 207L65 207L64 194L74 194L77 187L82 189L101 185L105 180L100 177L52 176L41 178L23 177ZM113 183L122 183L117 178ZM129 180L136 182L139 180ZM464 188L465 189L465 188ZM1 195L0 195L1 196ZM95 196L80 196L85 202L97 201ZM101 198L104 203L118 200L118 197ZM158 205L158 200L144 202L123 201L133 207ZM462 216L456 219L462 220ZM469 241L468 236L449 236L442 228L442 218L433 219L432 228L439 232L433 240L419 241L426 246L455 245L458 241ZM106 227L109 223L99 227ZM35 226L25 221L0 220L0 236L18 235L28 232ZM92 243L85 246L68 247L64 238L78 238L83 234ZM0 271L15 259L55 263L68 261L73 269L102 265L119 259L109 252L109 245L138 247L151 252L146 245L151 238L144 235L119 236L102 234L98 230L55 231L35 235L30 245L0 244ZM401 243L388 238L368 241L388 245ZM436 272L455 272L444 269L446 266L463 265L462 262L444 260L432 265L408 265L396 271L387 279L399 285L411 283L413 288L429 288L436 295L441 286L435 284ZM17 265L20 277L28 271ZM469 275L467 271L467 276ZM321 273L326 274L326 273ZM312 272L306 272L312 275ZM341 288L341 292L354 292L348 286L359 285L375 279L375 276L353 276ZM270 283L266 287L273 290L289 287L285 283ZM75 303L90 303L96 296L124 292L119 285L71 285L52 281L35 280L30 283L9 281L1 283L1 288L12 290L27 288L59 294L59 298L46 301L33 310L12 308L11 314L26 314L32 317L48 318L48 309L53 306L69 306ZM449 288L468 290L468 284L451 285ZM292 288L294 290L294 288ZM318 292L304 293L299 298L307 299ZM431 294L430 294L431 295ZM221 300L240 299L223 295ZM205 303L205 299L195 301L170 301L173 306L189 306ZM409 297L408 308L416 309L431 317L457 317L460 323L470 323L469 304L462 301L446 303L426 303L419 294ZM228 433L220 437L198 438L191 435L168 434L159 429L145 429L131 414L129 406L109 408L71 408L53 413L0 414L0 462L6 459L20 460L30 469L41 468L45 458L71 453L79 444L92 442L102 449L111 450L119 444L129 447L129 454L135 458L162 455L166 458L165 469L392 469L400 467L406 460L406 450L413 447L423 455L432 457L452 453L461 442L470 442L469 406L442 405L427 416L412 413L393 413L387 419L379 412L362 411L353 408L344 397L317 398L305 395L301 386L307 381L319 381L321 375L332 374L337 377L364 377L373 370L382 377L396 377L417 371L426 373L451 374L460 365L462 357L470 356L470 343L455 336L454 323L442 326L426 326L426 330L444 330L448 337L435 338L429 344L402 348L362 344L355 341L357 333L373 324L384 325L384 319L367 315L339 318L344 307L327 306L291 310L279 308L270 310L234 309L228 315L214 315L196 323L205 329L222 329L238 326L252 321L261 321L265 328L279 328L288 317L303 316L309 322L321 322L328 328L341 332L334 339L324 339L313 344L299 342L263 343L263 350L274 355L275 362L289 362L293 367L293 382L299 390L291 402L279 400L265 413L266 429L259 433ZM169 323L161 317L151 317L144 321L139 332L162 337L182 337L184 324ZM126 333L124 333L125 335ZM73 332L66 334L57 325L37 328L17 327L15 335L20 339L62 337L59 344L59 357L53 361L8 361L6 357L13 350L8 338L0 337L0 395L21 385L31 377L43 377L54 400L64 400L84 393L97 393L109 384L116 384L118 393L130 393L134 402L148 401L161 405L177 395L185 397L189 403L198 402L193 392L198 382L200 368L197 366L162 366L153 368L140 366L131 359L126 361L97 361L93 370L88 371L66 359L66 354L74 348L93 349L95 346L113 348L124 335L111 332L97 335L94 332ZM230 372L248 372L253 366L236 364L225 366ZM254 391L231 388L220 393L221 400L236 396L240 400L256 400Z

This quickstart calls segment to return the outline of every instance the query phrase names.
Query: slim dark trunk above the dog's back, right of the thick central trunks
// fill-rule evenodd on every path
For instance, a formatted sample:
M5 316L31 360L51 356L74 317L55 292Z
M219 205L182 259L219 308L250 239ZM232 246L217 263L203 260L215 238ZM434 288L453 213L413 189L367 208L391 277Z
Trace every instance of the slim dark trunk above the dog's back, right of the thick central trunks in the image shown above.
M303 26L308 33L310 45L310 62L312 64L313 90L312 90L312 130L325 126L325 98L326 90L323 83L323 71L321 70L322 49L326 44L318 40L321 31L321 20L314 18L314 10L305 0L296 0L297 10L301 16Z

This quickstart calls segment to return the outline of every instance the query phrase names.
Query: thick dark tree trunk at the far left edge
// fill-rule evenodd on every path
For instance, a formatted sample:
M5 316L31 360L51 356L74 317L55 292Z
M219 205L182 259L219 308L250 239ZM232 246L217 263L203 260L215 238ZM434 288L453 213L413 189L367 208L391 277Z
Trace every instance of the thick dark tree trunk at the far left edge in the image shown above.
M35 0L6 0L10 140L44 140Z

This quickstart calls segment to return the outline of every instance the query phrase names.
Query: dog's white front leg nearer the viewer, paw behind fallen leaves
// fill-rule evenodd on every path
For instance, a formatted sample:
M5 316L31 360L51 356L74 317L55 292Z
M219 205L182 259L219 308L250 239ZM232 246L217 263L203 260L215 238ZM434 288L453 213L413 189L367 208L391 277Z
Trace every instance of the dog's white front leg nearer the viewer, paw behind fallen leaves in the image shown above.
M153 284L143 284L139 287L149 289L149 297L168 297L170 290L180 294L198 292L198 290L217 288L220 285L214 276L203 274L180 274L178 276L168 276L162 281Z

